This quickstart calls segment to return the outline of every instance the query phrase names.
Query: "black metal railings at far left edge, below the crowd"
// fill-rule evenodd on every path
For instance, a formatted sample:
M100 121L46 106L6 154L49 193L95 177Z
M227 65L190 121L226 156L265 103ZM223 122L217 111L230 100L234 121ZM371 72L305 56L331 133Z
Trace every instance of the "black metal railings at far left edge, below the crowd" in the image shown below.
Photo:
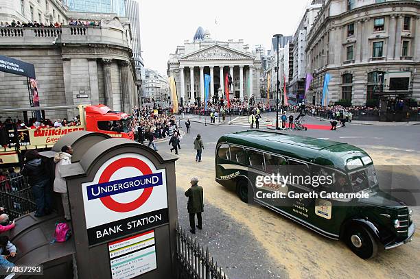
M10 220L36 210L27 178L17 173L0 175L0 206L5 208Z

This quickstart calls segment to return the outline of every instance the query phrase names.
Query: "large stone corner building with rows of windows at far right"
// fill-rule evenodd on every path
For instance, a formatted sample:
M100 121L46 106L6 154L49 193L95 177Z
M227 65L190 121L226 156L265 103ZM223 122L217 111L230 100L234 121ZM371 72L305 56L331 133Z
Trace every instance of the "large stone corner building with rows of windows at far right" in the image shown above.
M307 102L320 104L326 73L329 104L344 99L360 106L378 97L420 101L420 2L345 2L326 1L307 36L307 73L314 75ZM408 90L393 86L395 78L408 81Z

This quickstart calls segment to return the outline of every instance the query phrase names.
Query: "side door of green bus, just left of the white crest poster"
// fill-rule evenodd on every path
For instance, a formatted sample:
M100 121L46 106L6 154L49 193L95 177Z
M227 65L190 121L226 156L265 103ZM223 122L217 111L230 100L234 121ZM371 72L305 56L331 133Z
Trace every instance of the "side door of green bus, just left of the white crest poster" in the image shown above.
M288 213L298 217L305 222L310 222L314 217L314 199L303 197L303 194L310 194L313 189L310 183L310 167L305 163L294 159L288 159L288 199L290 207ZM292 197L293 196L293 197Z

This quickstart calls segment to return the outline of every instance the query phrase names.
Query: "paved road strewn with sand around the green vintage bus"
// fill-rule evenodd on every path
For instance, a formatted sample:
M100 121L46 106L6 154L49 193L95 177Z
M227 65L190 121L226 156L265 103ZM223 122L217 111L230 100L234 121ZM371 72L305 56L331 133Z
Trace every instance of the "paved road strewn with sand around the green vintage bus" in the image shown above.
M316 121L314 119L308 122ZM215 144L222 134L244 130L239 125L191 125L176 162L180 223L188 228L183 192L196 175L205 189L204 230L196 237L229 278L418 278L420 235L412 243L362 260L339 241L331 241L266 208L248 206L214 180ZM375 165L420 166L420 126L376 127L347 125L338 131L287 131L344 141L362 147ZM194 161L193 140L202 134L203 160ZM167 143L159 150L168 149ZM420 223L420 209L413 208Z

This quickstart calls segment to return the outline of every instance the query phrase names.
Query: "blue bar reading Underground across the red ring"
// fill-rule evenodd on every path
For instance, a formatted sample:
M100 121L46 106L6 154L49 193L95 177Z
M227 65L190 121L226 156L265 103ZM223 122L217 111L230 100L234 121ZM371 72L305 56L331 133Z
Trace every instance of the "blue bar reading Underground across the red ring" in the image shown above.
M88 200L99 199L109 195L117 195L130 191L161 186L163 184L162 173L140 175L134 178L124 178L110 182L104 182L87 186Z

